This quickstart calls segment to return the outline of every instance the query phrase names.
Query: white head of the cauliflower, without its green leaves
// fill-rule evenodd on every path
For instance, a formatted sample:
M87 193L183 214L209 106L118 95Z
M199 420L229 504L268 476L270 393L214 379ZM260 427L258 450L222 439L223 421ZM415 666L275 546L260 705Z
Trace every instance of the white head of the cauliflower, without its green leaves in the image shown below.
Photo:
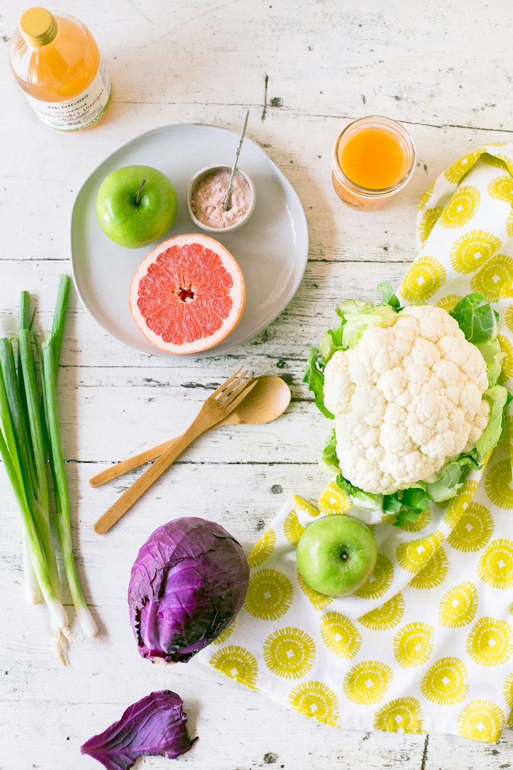
M412 306L394 326L368 327L325 368L342 474L373 494L435 478L488 424L486 363L454 318Z

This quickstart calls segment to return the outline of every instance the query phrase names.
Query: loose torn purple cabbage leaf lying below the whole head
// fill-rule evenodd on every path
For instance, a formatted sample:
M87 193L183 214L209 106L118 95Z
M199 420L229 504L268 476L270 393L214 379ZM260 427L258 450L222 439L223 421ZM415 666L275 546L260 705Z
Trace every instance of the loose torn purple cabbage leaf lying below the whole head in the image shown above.
M143 756L175 759L197 740L188 737L182 707L182 698L175 692L152 692L128 706L113 725L89 738L80 752L97 759L106 770L129 770Z

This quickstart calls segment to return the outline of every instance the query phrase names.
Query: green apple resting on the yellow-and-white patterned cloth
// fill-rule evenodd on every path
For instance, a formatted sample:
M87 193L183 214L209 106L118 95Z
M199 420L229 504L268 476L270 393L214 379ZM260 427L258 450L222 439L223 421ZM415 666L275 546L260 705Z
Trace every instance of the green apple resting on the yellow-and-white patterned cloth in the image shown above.
M309 524L297 550L298 571L320 594L358 591L374 571L378 548L371 530L353 516L327 516Z

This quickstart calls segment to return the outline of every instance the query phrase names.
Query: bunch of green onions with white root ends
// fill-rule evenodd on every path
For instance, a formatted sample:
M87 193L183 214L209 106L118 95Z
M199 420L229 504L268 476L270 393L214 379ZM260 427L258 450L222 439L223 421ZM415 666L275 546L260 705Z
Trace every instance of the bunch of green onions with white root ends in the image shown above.
M11 340L0 340L0 457L22 514L25 593L34 602L41 601L42 594L48 604L55 651L64 664L67 663L66 651L72 636L62 604L52 539L47 452L55 496L55 529L72 600L85 633L91 638L98 638L98 628L85 603L75 564L68 486L57 417L55 379L70 287L69 276L60 276L52 334L45 337L43 346L32 333L38 353L42 398L38 393L32 348L28 292L20 295L17 367Z

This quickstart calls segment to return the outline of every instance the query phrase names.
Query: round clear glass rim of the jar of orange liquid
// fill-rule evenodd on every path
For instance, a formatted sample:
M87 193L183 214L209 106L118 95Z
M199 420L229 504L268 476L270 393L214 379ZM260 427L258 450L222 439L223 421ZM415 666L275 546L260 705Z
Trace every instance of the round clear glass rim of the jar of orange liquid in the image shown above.
M408 168L406 169L406 172L401 177L401 179L399 179L398 182L395 182L395 184L391 186L381 187L378 189L362 187L361 185L358 185L357 182L353 182L352 179L350 179L348 176L345 175L341 167L341 163L338 159L338 149L340 148L341 142L347 137L348 132L351 132L351 129L354 129L354 127L357 125L361 125L364 123L372 124L373 122L378 124L381 123L381 126L378 126L378 127L390 129L396 135L400 136L401 140L405 142L405 146L406 146L406 149L408 150L408 155L409 155ZM335 173L335 176L338 179L338 182L342 186L345 186L345 188L348 189L350 192L355 192L363 198L375 199L375 198L385 198L392 194L395 195L396 192L399 192L399 190L406 185L409 179L411 179L411 175L415 170L416 160L417 160L417 151L415 149L415 144L413 142L413 139L411 139L411 136L409 132L405 129L405 127L401 126L401 123L394 120L393 118L387 118L385 115L365 115L363 118L356 118L355 120L351 120L351 122L349 122L348 125L345 126L345 128L342 129L341 132L338 134L338 137L335 140L335 145L333 146L333 152L331 156L331 166L332 166L333 172Z

